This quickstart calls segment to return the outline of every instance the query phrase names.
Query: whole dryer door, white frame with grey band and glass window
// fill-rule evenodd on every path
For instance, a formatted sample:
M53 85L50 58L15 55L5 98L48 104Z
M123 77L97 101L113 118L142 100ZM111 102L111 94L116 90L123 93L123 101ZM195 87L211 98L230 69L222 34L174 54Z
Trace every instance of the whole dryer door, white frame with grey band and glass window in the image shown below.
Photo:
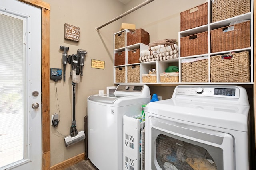
M157 117L148 123L152 170L234 169L232 135Z

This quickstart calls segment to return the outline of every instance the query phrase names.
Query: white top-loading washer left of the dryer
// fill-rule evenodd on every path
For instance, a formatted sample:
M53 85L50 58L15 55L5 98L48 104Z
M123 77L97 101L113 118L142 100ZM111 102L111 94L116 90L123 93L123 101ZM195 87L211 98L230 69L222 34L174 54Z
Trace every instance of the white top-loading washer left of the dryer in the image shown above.
M98 169L122 170L123 115L140 115L150 97L143 84L120 84L114 94L88 97L88 158Z

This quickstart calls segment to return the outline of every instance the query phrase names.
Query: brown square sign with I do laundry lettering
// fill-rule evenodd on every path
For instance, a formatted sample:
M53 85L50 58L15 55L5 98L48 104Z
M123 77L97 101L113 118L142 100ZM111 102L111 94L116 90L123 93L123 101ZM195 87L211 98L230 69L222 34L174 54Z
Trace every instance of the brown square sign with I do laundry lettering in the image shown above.
M70 39L73 41L79 41L80 39L80 28L65 23L64 25L64 39Z

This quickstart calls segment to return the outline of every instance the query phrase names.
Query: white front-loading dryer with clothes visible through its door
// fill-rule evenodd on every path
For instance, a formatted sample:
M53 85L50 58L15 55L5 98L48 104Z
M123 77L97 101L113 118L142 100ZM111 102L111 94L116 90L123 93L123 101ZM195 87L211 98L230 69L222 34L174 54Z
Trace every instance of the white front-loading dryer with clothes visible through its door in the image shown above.
M176 86L171 99L145 107L146 170L249 170L250 106L240 86ZM186 167L186 168L185 168Z

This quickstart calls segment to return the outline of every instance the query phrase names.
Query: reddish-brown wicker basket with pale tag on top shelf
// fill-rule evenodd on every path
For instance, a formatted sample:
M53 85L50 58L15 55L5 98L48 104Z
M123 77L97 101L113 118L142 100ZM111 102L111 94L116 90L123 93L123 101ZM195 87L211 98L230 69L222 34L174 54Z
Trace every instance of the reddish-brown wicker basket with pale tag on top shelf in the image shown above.
M208 2L180 13L180 31L208 24Z

